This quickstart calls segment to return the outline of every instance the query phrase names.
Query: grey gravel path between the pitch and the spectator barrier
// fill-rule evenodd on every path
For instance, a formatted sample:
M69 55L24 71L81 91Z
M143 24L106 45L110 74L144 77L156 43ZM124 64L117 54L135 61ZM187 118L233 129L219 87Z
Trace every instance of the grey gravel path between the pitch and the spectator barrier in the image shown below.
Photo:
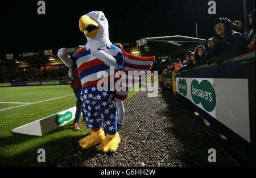
M114 153L96 147L71 148L58 166L236 166L170 90L160 83L158 97L137 92L125 101L125 118L118 132L121 143ZM79 138L77 139L79 140ZM217 162L208 162L214 148Z

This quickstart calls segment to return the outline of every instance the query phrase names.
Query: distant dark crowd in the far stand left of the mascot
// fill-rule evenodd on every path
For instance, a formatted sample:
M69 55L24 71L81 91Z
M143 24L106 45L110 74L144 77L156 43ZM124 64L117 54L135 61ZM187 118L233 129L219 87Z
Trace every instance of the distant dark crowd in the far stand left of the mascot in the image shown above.
M68 68L24 69L18 72L2 73L1 82L67 80Z

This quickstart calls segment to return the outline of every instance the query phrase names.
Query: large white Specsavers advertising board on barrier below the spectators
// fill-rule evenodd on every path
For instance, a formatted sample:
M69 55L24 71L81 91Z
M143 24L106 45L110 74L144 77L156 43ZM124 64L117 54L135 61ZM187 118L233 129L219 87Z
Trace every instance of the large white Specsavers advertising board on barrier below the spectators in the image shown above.
M179 78L176 92L250 143L246 78Z

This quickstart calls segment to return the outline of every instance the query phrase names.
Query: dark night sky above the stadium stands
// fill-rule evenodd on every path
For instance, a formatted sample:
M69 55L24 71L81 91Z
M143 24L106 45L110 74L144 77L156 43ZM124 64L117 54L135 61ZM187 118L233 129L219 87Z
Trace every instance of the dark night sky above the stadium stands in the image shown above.
M1 53L77 47L86 38L79 18L101 10L109 21L111 42L133 42L144 37L185 35L199 38L214 35L216 17L243 20L242 0L216 0L217 14L208 14L208 0L178 1L49 1L46 15L37 14L38 1L6 1L1 5ZM255 0L247 0L247 14Z

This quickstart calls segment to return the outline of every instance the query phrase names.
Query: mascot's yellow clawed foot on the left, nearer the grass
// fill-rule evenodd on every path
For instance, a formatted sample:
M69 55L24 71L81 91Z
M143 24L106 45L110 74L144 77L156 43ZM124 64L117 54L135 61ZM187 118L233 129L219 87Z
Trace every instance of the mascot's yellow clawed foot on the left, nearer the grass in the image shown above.
M92 131L92 134L79 140L79 146L82 147L82 149L87 149L96 146L96 144L100 144L103 140L105 140L105 133L100 129L96 132Z

